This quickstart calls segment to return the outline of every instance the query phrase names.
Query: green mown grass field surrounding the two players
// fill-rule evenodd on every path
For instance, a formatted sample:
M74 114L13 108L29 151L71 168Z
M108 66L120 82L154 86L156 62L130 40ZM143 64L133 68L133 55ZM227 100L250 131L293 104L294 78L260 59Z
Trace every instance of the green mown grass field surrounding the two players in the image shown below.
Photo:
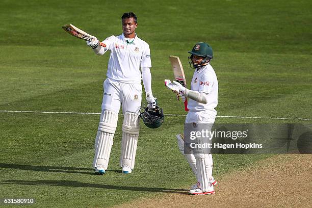
M97 176L91 165L98 114L11 112L100 113L109 56L96 56L62 25L72 23L102 40L121 34L121 15L135 12L137 34L151 49L153 94L165 114L185 114L163 85L173 76L168 56L180 57L191 80L187 51L204 41L215 55L217 123L311 123L311 9L310 1L280 0L2 0L0 198L34 198L37 207L106 207L185 194L195 182L175 139L183 131L184 116L166 116L161 128L153 130L141 122L136 167L124 175L118 167L120 115L109 170ZM214 175L267 157L216 154Z

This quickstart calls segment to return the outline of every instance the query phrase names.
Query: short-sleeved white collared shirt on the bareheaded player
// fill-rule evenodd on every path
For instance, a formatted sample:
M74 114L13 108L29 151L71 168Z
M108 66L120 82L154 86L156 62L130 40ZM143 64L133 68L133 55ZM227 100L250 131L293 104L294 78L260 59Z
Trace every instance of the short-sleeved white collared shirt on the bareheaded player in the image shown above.
M149 45L137 35L129 44L123 34L108 37L102 43L105 51L111 51L107 77L128 84L141 83L140 67L151 67Z

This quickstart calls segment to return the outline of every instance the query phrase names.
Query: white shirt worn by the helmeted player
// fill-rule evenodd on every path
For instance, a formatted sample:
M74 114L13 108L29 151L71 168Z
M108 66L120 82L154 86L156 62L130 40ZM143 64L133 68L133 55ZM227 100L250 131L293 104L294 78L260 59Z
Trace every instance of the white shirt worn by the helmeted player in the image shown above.
M210 64L195 70L191 82L191 90L207 93L207 103L202 104L189 99L187 123L214 123L217 115L215 108L218 105L218 87L217 75Z

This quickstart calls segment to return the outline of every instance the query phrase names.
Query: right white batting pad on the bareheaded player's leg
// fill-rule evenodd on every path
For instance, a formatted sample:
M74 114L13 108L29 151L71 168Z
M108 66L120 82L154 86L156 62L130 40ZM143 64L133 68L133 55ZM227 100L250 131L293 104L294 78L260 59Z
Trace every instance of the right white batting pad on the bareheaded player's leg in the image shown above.
M123 117L120 167L123 165L134 168L140 132L139 115L126 112Z

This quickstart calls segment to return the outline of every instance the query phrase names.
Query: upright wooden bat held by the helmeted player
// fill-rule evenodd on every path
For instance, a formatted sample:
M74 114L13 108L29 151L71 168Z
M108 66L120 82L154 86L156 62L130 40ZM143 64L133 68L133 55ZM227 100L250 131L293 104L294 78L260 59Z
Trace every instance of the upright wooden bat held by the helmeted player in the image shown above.
M184 70L183 70L183 66L180 62L179 57L169 56L169 61L170 61L171 66L172 66L175 81L180 83L182 86L186 86L186 79L185 79L185 75L184 75ZM184 102L184 109L185 109L185 111L189 111L187 99L185 99L185 102Z

